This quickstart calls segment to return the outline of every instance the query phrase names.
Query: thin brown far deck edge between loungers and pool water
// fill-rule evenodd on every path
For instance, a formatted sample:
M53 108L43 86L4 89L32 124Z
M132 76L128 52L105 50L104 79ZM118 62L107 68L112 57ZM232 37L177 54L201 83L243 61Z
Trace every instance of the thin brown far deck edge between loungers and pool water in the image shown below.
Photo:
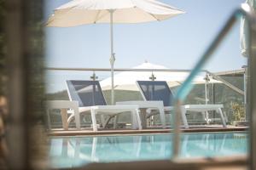
M206 133L206 132L237 132L247 131L248 127L222 127L218 125L212 126L191 126L189 129L181 128L181 133ZM55 129L48 132L49 136L86 136L86 135L115 135L115 134L143 134L143 133L172 133L172 129L162 128L147 128L143 130L132 130L132 129L100 129L99 131L93 132L91 128L82 128L81 130L70 129L62 130Z

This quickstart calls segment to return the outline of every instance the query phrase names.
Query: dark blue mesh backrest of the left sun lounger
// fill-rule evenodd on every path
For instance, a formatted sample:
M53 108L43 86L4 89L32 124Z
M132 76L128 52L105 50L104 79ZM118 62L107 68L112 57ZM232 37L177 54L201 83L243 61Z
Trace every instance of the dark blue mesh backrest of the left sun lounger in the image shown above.
M70 100L79 101L79 107L107 105L98 81L67 80L67 94Z

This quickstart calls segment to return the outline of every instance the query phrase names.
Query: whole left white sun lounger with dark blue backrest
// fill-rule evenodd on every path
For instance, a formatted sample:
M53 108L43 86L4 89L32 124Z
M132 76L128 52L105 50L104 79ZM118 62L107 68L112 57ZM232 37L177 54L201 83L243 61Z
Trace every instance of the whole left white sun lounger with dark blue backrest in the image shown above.
M93 131L97 131L96 115L101 115L103 127L108 121L104 116L116 116L122 112L129 111L132 116L132 128L142 129L138 105L107 105L102 94L102 88L98 81L67 81L67 94L72 101L79 102L79 114L90 114ZM69 116L69 120L75 115ZM114 122L114 128L116 127Z

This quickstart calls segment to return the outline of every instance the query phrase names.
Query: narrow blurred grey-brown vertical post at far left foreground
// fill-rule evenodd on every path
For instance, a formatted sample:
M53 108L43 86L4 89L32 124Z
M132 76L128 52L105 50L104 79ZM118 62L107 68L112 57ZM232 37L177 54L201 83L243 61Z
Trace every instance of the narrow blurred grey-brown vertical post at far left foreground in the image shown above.
M6 39L9 76L9 148L10 169L28 168L28 131L26 128L26 53L25 12L26 0L6 1ZM16 142L15 142L16 141ZM18 141L18 142L17 142Z

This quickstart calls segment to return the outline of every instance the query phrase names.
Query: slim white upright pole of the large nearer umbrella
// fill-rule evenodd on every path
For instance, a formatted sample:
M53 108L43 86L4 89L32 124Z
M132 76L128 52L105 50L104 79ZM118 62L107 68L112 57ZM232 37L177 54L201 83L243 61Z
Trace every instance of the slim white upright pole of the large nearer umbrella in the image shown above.
M114 91L113 91L113 64L114 64L114 53L113 53L113 10L109 10L110 13L110 43L111 43L111 56L110 56L110 65L111 65L111 105L114 104Z

